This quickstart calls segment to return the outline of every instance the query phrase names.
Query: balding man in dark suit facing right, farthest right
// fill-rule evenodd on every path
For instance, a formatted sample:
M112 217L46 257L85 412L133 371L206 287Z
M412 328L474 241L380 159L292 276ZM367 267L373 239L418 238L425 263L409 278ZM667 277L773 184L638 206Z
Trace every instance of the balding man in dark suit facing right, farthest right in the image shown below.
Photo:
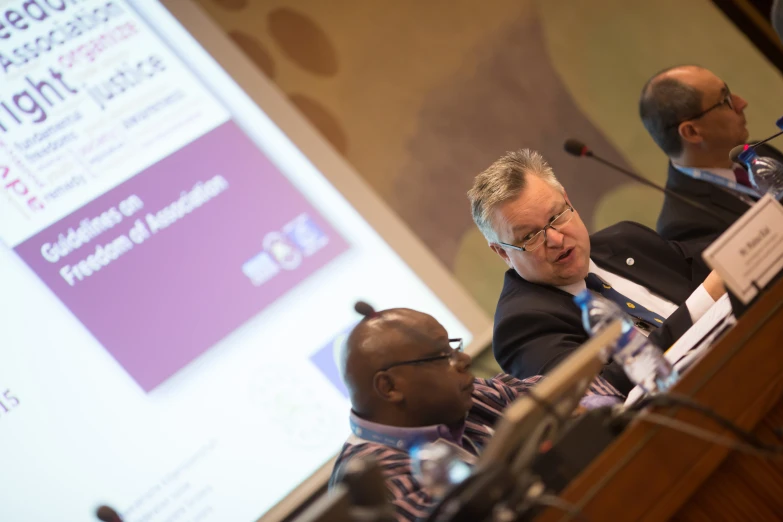
M710 208L716 219L678 199L666 196L658 217L658 233L666 239L689 241L724 232L744 214L754 199L722 179L750 187L744 167L729 152L748 139L741 96L702 67L665 69L650 78L639 99L639 115L656 144L669 157L666 187ZM762 156L783 159L775 148L761 145ZM719 183L695 179L692 169L716 175Z

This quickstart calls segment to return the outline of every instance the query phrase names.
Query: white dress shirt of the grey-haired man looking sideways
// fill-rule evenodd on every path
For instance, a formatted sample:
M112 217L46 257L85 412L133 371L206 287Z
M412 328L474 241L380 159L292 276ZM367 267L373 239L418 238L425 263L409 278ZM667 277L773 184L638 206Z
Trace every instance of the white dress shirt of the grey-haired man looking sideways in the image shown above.
M658 294L651 292L648 288L636 284L633 281L619 276L613 272L604 270L603 268L596 265L592 259L590 260L590 272L612 285L615 290L624 296L633 301L636 301L640 305L644 306L651 312L655 312L664 319L667 319L672 313L674 313L675 310L677 310L677 308L679 308L678 304L672 303L668 299L664 299ZM570 285L559 286L558 288L564 292L568 292L571 295L576 295L587 288L587 284L584 282L584 280L581 280ZM707 293L707 290L704 289L703 285L699 285L699 287L694 290L690 297L688 297L688 299L685 301L685 306L688 307L688 313L691 316L691 322L695 323L698 321L713 304L715 304L715 301L712 299L712 297L710 297L710 294Z

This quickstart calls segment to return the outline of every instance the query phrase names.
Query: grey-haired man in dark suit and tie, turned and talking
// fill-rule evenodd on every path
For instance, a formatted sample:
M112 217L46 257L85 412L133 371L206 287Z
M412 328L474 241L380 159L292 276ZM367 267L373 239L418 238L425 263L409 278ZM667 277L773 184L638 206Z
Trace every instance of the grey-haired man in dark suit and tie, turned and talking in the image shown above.
M501 367L517 378L549 372L587 340L573 296L588 285L614 288L639 329L662 348L725 292L701 260L707 239L666 241L630 222L589 236L538 152L506 154L476 177L468 197L489 247L509 266L492 345ZM632 387L616 363L601 375L623 393Z

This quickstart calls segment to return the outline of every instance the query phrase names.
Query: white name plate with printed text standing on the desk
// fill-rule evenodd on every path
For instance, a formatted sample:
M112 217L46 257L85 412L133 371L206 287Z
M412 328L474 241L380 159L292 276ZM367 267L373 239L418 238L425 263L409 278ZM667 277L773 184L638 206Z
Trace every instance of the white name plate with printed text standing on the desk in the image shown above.
M783 269L783 206L765 195L703 256L734 295L749 303Z

